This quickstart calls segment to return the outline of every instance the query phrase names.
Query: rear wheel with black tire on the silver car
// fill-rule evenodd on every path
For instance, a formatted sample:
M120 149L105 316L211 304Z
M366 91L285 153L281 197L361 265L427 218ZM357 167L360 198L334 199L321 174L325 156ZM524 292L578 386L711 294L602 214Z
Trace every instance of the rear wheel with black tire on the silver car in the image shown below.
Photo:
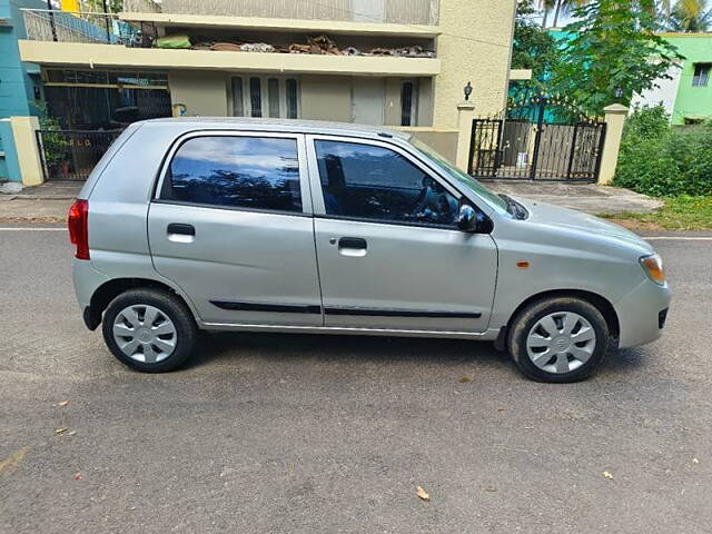
M192 354L198 336L192 313L185 303L168 291L151 288L129 289L111 300L101 332L113 356L141 373L179 368Z

